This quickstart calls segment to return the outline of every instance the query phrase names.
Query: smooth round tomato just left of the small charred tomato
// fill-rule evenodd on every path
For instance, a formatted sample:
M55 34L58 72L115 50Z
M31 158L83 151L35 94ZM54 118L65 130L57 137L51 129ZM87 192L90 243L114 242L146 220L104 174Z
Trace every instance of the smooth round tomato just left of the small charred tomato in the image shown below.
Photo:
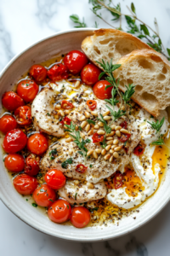
M24 170L25 160L20 154L8 154L5 157L4 164L10 172L21 172Z

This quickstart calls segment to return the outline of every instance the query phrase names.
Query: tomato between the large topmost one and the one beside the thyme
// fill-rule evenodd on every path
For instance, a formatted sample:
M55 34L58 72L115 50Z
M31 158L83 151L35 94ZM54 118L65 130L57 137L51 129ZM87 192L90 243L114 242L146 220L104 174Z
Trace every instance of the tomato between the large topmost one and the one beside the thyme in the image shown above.
M90 63L82 68L81 79L84 84L93 85L99 81L101 70Z

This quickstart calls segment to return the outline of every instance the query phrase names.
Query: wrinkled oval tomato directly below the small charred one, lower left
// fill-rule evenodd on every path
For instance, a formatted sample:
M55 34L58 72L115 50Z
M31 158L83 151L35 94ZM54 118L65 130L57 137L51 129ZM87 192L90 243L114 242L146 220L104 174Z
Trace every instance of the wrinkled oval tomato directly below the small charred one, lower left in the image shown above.
M37 189L37 178L30 177L26 174L19 174L17 177L14 178L14 188L21 194L21 195L31 195L35 189Z

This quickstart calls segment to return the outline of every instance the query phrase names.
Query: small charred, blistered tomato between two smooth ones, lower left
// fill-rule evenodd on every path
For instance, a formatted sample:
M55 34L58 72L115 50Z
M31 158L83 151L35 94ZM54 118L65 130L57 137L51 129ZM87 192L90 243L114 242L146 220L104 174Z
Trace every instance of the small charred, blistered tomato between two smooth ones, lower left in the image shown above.
M26 157L26 166L24 172L30 176L35 176L39 172L40 157L30 154Z

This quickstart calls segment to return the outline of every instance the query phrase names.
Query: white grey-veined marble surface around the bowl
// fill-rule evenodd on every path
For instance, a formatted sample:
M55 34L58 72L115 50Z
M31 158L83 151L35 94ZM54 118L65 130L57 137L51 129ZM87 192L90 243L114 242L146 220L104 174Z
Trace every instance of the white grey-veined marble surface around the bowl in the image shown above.
M126 4L123 12L127 13ZM138 15L150 26L156 16L162 41L170 48L169 0L138 0ZM114 1L117 3L117 1ZM69 15L84 16L88 26L97 20L89 10L88 0L0 0L0 70L20 50L54 32L73 27ZM105 18L108 14L104 13ZM97 243L75 243L49 237L23 223L0 201L0 255L85 255L85 256L168 256L170 255L170 204L149 224L116 240ZM83 232L83 230L82 230Z

